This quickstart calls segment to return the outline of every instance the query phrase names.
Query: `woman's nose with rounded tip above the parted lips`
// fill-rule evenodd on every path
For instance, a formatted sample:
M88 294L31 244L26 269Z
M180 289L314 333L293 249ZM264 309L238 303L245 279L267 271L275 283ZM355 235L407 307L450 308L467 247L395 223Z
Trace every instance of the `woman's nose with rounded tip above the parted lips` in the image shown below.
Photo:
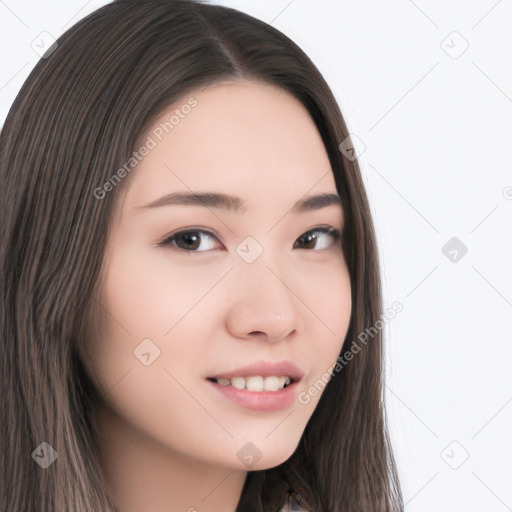
M232 336L276 342L304 331L294 283L267 266L263 258L244 263L233 272L232 279L235 285L226 318Z

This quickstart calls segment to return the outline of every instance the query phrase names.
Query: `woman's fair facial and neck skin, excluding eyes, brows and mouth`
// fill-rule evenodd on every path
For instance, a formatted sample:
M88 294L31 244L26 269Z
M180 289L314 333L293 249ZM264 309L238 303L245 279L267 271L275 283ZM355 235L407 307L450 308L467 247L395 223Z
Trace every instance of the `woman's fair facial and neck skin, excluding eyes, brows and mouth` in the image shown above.
M296 400L285 410L253 411L206 378L258 360L291 359L305 374L297 393L305 391L336 361L350 319L340 242L317 232L317 242L294 248L313 228L343 227L339 205L287 213L306 195L337 194L305 108L287 92L252 81L193 96L197 106L138 164L119 196L98 335L83 347L103 394L94 421L120 512L233 512L249 469L237 452L248 442L261 452L250 470L287 460L321 393L306 405ZM188 98L170 106L148 134ZM246 209L141 208L191 191L233 194ZM201 235L196 252L157 245L184 228L216 238ZM263 248L250 264L236 252L247 236ZM134 355L144 339L160 350L149 366Z

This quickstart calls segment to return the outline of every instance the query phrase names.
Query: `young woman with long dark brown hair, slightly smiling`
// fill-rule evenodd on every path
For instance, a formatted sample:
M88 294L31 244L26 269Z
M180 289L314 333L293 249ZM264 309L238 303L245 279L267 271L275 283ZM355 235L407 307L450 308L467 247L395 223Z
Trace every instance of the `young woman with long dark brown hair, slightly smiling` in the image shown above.
M236 10L118 0L58 40L0 139L0 510L402 509L347 137Z

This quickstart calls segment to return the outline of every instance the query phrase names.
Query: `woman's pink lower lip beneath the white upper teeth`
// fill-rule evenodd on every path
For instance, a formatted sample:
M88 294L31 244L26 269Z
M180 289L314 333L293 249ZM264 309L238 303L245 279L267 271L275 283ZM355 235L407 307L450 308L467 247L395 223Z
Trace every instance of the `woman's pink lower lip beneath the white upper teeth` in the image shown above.
M233 386L222 386L210 380L208 383L226 398L253 411L272 412L287 409L293 404L297 394L297 382L293 382L279 391L248 391Z

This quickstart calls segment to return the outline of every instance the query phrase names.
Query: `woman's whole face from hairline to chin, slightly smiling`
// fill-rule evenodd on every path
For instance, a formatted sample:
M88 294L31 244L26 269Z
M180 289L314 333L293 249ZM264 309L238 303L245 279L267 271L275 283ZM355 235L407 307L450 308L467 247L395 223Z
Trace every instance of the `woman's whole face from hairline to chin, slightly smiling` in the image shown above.
M296 449L347 332L343 211L291 95L233 82L191 96L141 139L83 359L105 407L170 456L261 470Z

